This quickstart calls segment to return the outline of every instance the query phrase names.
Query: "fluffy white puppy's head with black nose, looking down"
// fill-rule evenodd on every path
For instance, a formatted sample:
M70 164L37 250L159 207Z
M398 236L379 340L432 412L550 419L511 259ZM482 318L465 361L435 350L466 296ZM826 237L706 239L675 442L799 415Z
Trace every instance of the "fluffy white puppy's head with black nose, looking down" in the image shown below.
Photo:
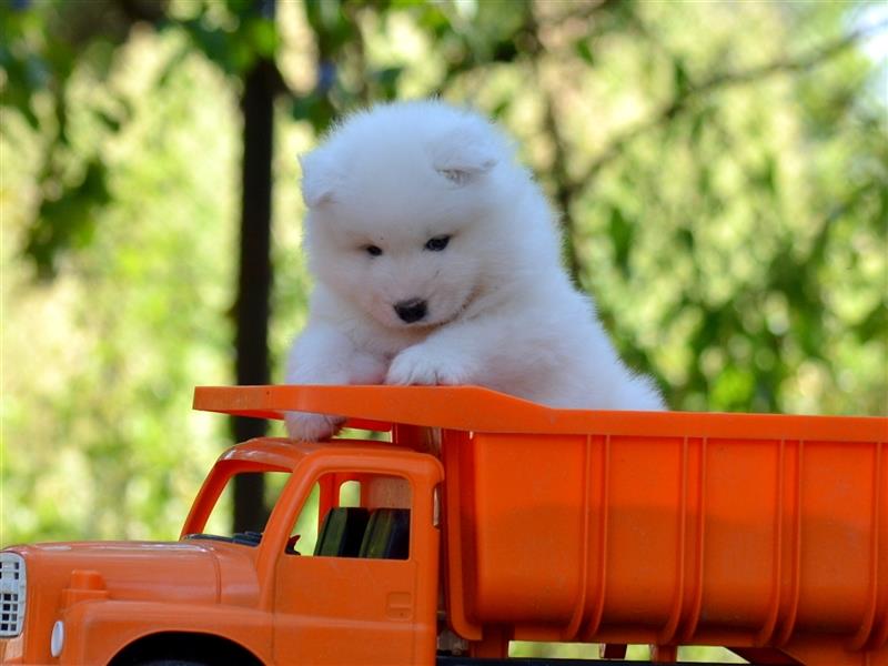
M385 326L453 321L509 253L509 160L486 120L440 102L352 117L301 160L312 272Z

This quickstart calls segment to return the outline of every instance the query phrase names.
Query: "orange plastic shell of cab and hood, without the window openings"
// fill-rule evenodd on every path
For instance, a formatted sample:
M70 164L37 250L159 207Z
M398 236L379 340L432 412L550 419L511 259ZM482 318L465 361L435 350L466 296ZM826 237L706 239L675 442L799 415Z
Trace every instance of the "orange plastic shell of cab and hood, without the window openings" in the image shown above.
M411 483L416 502L408 559L286 553L314 482L343 470L397 474ZM23 634L0 639L0 663L103 666L134 642L175 632L219 636L269 665L433 664L440 531L431 527L431 500L442 480L441 464L379 442L253 440L219 458L183 536L204 529L233 474L260 471L292 476L255 547L183 539L8 548L27 562L29 601ZM405 619L393 618L393 612ZM64 623L65 639L62 654L53 658L49 638L57 620ZM232 656L230 663L242 662Z

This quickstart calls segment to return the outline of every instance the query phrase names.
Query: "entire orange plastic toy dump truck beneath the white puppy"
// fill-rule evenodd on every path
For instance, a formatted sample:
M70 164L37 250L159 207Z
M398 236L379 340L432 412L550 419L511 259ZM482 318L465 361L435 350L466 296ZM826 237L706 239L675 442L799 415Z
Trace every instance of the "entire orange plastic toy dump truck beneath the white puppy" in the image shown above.
M202 387L194 406L391 436L234 446L175 543L7 548L3 664L505 664L521 639L888 665L888 418L443 386ZM268 522L213 534L255 473L280 488Z

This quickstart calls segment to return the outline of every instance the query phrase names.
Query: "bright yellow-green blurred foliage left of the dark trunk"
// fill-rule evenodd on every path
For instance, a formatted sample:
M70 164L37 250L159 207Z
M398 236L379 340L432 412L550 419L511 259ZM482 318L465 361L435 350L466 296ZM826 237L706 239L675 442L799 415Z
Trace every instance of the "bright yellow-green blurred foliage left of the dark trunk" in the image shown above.
M139 103L139 87L159 71L145 56L174 52L174 41L135 40L120 53L111 80L134 112L102 147L105 167L88 168L80 186L58 200L38 203L39 137L19 124L0 138L4 155L19 155L2 160L0 173L4 544L174 537L224 445L215 423L195 421L189 406L194 383L230 376L234 242L220 220L232 214L236 194L216 183L236 173L236 123L231 105L220 114L189 93L226 94L195 58L152 87L152 104ZM71 87L80 87L80 73L73 77ZM88 139L103 132L71 127L72 145L90 151ZM205 160L199 173L194 154ZM102 183L98 190L91 180ZM69 234L69 252L53 255L54 282L34 284L20 253L56 240L42 230Z

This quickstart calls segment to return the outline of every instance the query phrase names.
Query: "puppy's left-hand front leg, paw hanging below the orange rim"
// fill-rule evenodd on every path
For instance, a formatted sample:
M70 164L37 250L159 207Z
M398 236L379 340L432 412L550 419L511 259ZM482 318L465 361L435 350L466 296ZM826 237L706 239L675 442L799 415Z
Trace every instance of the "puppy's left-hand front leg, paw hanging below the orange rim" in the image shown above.
M337 329L310 323L290 351L286 381L291 384L379 384L385 365L355 349ZM335 435L344 416L287 412L287 434L294 440L316 442Z

